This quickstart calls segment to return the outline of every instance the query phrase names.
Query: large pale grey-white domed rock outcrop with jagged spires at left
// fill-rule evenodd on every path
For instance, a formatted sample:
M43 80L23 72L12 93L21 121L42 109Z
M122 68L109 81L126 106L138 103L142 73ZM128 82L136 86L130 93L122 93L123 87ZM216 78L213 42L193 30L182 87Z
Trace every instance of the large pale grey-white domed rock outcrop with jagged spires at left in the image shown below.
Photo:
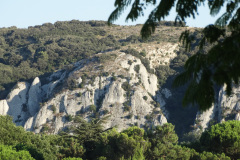
M164 89L162 94L157 77L132 55L102 53L52 74L48 81L41 85L36 77L32 84L17 83L0 101L0 114L11 115L28 131L47 128L54 134L70 126L69 117L76 115L86 121L107 117L104 128L118 130L167 122L164 98L171 92Z

